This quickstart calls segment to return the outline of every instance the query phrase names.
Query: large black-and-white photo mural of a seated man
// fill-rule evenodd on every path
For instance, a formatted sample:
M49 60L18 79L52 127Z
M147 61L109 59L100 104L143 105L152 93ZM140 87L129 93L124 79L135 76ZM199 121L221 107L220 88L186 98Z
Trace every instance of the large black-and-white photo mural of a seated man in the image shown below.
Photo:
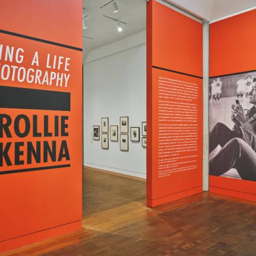
M256 181L256 72L210 78L210 175Z

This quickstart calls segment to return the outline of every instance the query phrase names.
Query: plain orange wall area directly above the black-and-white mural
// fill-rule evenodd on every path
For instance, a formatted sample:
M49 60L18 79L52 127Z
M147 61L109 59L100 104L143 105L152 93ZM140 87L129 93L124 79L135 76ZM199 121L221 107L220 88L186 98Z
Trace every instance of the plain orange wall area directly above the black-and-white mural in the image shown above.
M210 24L211 76L255 70L256 10Z

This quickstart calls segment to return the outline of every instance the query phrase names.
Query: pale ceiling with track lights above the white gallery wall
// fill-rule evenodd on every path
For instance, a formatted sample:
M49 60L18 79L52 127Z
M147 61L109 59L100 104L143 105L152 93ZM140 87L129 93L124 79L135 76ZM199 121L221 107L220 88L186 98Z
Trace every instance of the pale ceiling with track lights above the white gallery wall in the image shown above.
M100 6L110 0L83 0L83 13L88 28L83 29L83 49L91 51L103 45L118 41L127 36L136 34L146 29L146 2L145 0L116 0L119 12L113 13L112 4L100 9ZM102 15L126 22L123 31L118 32L117 22L107 19Z

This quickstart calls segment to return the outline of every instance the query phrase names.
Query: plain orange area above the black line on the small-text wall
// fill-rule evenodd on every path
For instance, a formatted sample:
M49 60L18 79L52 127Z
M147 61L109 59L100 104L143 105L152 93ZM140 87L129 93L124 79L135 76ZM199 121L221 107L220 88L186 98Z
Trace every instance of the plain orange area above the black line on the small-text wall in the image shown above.
M202 23L153 0L153 65L203 74Z

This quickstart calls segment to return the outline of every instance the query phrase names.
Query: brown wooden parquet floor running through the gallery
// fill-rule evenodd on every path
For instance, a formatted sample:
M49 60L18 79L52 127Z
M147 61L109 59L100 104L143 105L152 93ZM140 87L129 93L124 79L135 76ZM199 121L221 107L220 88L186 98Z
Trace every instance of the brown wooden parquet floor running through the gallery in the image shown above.
M2 255L256 255L253 204L203 193L151 209L145 181L88 169L83 188L82 231Z

